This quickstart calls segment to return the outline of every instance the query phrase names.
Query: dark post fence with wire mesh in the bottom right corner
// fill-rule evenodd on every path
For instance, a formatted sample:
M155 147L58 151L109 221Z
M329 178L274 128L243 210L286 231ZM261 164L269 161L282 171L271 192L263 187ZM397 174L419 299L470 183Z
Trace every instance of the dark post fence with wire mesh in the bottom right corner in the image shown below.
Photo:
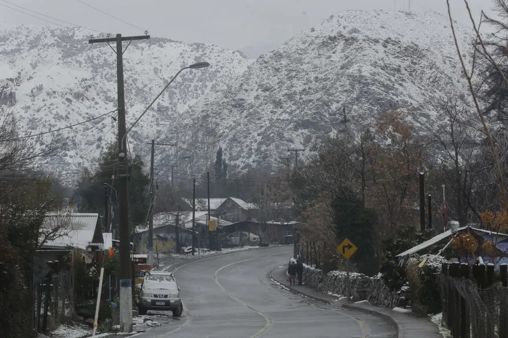
M443 263L442 320L456 338L508 338L508 266Z

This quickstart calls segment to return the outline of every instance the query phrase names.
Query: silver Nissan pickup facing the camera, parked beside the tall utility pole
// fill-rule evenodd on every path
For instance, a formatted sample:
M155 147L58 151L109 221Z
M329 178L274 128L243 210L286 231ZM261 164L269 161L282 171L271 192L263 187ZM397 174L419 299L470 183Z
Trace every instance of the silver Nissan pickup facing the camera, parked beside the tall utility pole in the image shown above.
M140 315L145 315L148 310L172 311L174 317L182 315L180 287L176 284L172 273L150 272L143 278L140 293L138 300Z

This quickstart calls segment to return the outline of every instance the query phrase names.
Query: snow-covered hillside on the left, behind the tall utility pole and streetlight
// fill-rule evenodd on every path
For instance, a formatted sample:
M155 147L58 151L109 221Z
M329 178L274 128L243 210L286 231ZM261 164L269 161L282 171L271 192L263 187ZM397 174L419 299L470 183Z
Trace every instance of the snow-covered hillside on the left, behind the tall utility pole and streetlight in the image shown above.
M106 44L89 45L88 39L73 29L0 27L0 111L16 116L21 135L58 129L116 108L116 56ZM252 62L238 51L157 37L134 41L123 57L128 126L181 67L211 64L183 71L133 129L130 145L138 153L148 152L145 143L160 135L178 112L231 82ZM116 128L107 116L63 130L71 137L67 156L43 168L70 175L79 174L81 165L93 168Z

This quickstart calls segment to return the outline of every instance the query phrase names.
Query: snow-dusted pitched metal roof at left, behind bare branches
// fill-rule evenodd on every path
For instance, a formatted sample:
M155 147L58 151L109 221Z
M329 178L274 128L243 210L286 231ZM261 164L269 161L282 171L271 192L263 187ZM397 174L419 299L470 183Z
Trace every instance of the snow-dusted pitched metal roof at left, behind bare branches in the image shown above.
M67 219L69 217L69 219ZM99 214L96 213L48 213L42 223L42 231L55 229L61 222L69 221L68 226L58 231L60 237L45 243L47 246L72 246L86 249L93 239Z

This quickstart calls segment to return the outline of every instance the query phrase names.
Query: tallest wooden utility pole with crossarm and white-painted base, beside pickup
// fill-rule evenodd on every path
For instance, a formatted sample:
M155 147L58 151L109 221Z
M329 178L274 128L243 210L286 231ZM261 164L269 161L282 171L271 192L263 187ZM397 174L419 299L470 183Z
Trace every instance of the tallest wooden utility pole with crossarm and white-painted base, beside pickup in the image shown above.
M119 193L119 231L120 231L120 332L132 332L132 272L129 238L129 179L128 163L126 161L126 127L125 127L125 92L123 87L123 53L133 40L150 39L150 35L123 36L107 39L90 39L89 44L107 43L116 53L117 78L117 110L118 110L118 193ZM122 48L122 41L129 41L129 45ZM116 43L116 51L109 43Z

